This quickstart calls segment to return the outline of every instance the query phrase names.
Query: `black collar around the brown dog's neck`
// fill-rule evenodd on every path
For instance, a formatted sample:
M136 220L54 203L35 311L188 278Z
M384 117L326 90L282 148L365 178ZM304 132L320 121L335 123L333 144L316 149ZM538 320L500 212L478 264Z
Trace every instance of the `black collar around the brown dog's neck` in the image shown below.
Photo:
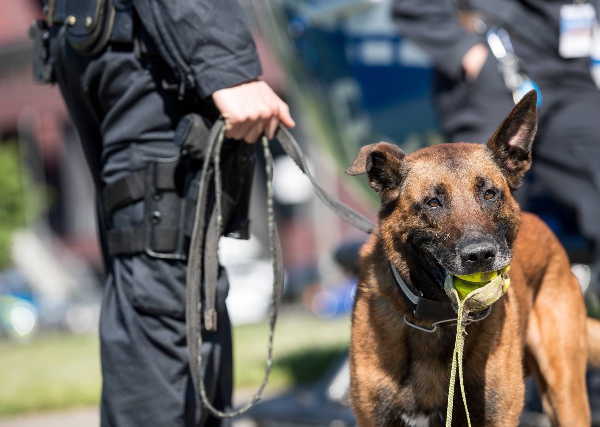
M454 309L452 301L449 298L445 301L435 301L425 298L422 292L419 292L413 286L404 282L400 273L392 262L389 263L389 267L392 270L392 276L394 282L400 294L403 296L404 301L409 304L410 309L413 310L416 318L428 322L440 323L454 320L457 318L457 310ZM479 321L490 315L491 306L479 313L469 313L470 321ZM412 326L412 324L411 324ZM418 328L420 329L420 328Z

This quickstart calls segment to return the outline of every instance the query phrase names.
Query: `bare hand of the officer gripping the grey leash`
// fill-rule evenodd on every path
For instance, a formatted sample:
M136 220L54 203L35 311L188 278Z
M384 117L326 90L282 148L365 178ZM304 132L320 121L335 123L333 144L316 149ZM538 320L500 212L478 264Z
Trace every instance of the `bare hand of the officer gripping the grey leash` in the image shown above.
M296 126L290 108L262 80L220 89L212 94L217 108L225 118L227 138L255 142L266 133L274 138L279 122Z

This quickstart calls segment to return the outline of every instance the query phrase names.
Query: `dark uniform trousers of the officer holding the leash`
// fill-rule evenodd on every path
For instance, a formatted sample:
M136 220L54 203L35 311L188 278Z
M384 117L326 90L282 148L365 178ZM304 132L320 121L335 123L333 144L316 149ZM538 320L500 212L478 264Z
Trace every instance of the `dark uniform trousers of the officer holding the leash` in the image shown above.
M133 46L109 45L96 56L76 53L56 29L51 49L55 71L79 132L97 189L156 159L178 155L173 129L200 106L178 100L172 76L160 61L140 59ZM164 84L167 83L167 84ZM98 208L100 234L143 223L143 202L112 218ZM106 255L106 239L102 238ZM100 319L103 427L223 425L208 416L194 393L185 329L186 264L145 253L106 257ZM218 281L219 330L205 333L206 389L217 408L232 399L232 342L225 298Z

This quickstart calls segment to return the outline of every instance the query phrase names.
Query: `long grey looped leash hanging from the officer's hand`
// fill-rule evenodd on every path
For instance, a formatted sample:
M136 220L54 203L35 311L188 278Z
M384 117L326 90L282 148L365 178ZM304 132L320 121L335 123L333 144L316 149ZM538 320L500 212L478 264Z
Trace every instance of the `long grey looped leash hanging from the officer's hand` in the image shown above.
M204 150L204 164L200 175L198 189L198 199L196 214L194 217L194 228L190 242L190 252L188 256L187 270L187 298L186 298L186 316L187 316L187 336L188 351L190 356L190 371L196 391L200 394L202 404L215 417L232 418L239 416L254 406L262 397L266 384L271 374L273 365L273 338L275 332L275 323L277 323L277 314L281 304L281 295L283 293L283 261L281 258L281 243L275 226L275 216L273 210L273 161L271 150L269 150L269 140L266 136L261 139L263 154L265 156L265 172L267 177L267 210L269 226L269 252L273 265L273 292L271 295L271 307L269 312L269 341L268 355L266 360L265 377L258 391L251 401L232 412L223 412L215 408L209 401L206 393L203 357L202 357L202 312L204 308L204 325L207 332L217 330L218 319L216 309L217 280L218 280L218 243L223 230L223 181L221 176L221 148L225 139L225 126L223 120L218 120L208 135L208 143ZM277 139L283 150L294 160L296 165L307 175L313 185L316 195L323 201L334 213L337 213L344 220L356 228L371 233L374 224L371 220L348 207L343 202L338 201L322 189L314 180L308 170L306 159L298 142L293 138L289 130L280 126ZM205 234L205 223L207 217L207 206L209 201L209 166L214 167L214 190L215 204L212 209L208 226L206 228L206 241L203 239ZM202 279L204 278L204 282ZM202 292L200 283L204 283L205 307L202 305Z

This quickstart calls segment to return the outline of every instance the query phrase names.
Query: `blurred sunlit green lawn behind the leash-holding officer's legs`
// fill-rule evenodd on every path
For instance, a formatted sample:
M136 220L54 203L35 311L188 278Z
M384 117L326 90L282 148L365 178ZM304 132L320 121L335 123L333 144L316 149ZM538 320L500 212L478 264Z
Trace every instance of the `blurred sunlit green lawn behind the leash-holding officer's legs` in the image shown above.
M349 319L322 321L283 308L275 332L268 390L314 381L347 348ZM267 325L233 332L237 389L262 381ZM0 416L98 405L101 375L97 336L44 335L28 344L0 344Z

